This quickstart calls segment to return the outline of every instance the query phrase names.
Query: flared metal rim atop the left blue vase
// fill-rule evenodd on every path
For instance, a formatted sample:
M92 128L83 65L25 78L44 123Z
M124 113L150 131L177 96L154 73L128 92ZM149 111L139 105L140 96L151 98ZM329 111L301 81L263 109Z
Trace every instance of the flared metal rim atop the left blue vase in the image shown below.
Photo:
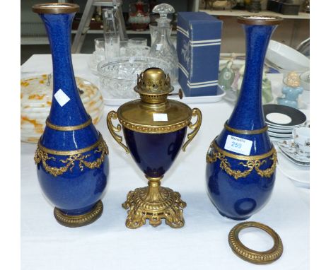
M79 5L70 3L45 3L35 4L32 7L33 12L39 14L64 14L64 13L75 13L79 11Z

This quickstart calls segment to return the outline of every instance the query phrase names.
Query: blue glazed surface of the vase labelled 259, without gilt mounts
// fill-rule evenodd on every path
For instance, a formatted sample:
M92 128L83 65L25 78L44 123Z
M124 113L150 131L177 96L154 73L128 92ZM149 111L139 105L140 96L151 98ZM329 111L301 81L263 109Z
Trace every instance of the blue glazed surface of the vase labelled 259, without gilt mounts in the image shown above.
M228 126L233 129L254 130L265 127L262 109L262 70L269 39L275 25L243 25L246 37L246 61L243 84L236 106L228 119ZM228 135L252 141L249 155L261 155L272 149L267 131L262 134L236 134L226 129L216 137L216 144L224 150ZM228 153L241 155L225 149ZM216 149L209 148L209 153ZM235 158L226 157L231 170L247 170ZM270 157L260 166L265 170L272 166ZM220 160L207 163L206 180L209 197L222 216L235 220L245 220L262 209L272 193L275 173L271 177L261 177L252 170L246 177L235 179L220 168Z

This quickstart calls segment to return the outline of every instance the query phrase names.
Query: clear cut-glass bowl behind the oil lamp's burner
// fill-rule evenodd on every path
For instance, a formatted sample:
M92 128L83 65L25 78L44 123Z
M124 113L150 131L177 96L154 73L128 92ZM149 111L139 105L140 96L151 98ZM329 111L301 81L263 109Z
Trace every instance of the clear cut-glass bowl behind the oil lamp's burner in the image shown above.
M138 98L138 93L134 91L137 75L151 67L170 74L170 65L153 57L117 57L110 62L101 61L98 64L100 90L105 98Z

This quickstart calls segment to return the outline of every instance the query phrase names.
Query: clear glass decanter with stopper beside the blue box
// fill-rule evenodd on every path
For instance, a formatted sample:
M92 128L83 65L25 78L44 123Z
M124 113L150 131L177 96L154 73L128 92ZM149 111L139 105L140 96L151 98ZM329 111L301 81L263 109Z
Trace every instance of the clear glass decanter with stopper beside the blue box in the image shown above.
M170 19L168 13L175 13L175 8L168 4L159 4L153 8L153 13L159 13L160 18L156 19L158 23L158 34L156 40L151 45L150 57L163 59L170 64L170 78L173 83L178 81L178 57L173 43L170 41L168 31L170 28Z

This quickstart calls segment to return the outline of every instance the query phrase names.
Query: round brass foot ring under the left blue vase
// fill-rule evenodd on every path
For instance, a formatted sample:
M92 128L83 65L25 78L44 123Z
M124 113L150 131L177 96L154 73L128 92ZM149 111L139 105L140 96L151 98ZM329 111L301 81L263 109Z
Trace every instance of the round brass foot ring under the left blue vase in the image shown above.
M98 218L100 218L102 213L103 213L103 202L100 200L95 204L95 206L90 212L84 213L83 215L79 215L79 216L69 216L63 213L57 207L54 208L54 217L57 220L57 222L60 223L61 225L71 228L81 227L91 224L94 221L96 221Z

